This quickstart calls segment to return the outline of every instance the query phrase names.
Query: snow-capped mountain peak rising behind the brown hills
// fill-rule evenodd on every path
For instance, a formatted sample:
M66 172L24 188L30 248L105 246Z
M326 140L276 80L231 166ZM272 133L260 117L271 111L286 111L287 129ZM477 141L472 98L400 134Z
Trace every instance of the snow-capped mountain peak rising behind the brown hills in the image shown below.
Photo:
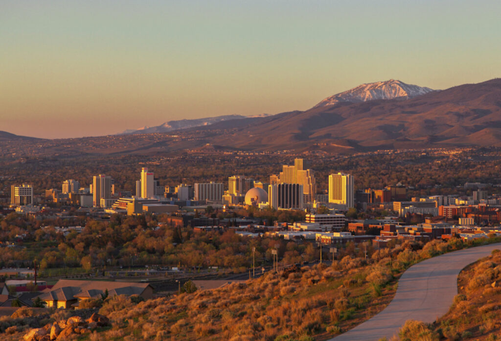
M327 97L314 108L326 105L333 105L339 102L366 102L375 99L408 99L424 95L433 89L420 87L417 85L406 84L399 80L390 79L385 82L375 82L361 84L353 89L336 95Z

